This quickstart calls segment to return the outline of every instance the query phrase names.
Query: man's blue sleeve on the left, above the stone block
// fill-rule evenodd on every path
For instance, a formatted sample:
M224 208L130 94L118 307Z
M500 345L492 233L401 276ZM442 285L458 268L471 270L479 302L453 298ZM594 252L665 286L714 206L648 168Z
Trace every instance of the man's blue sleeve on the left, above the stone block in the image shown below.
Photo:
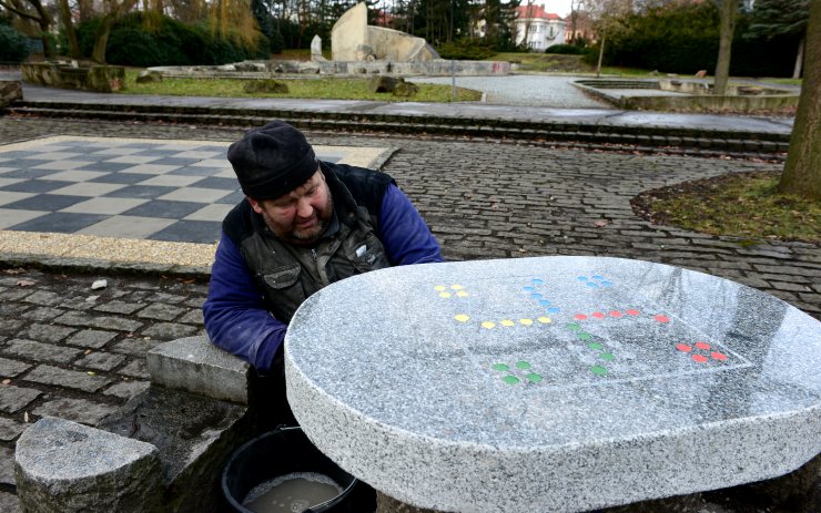
M240 249L222 235L203 305L211 341L265 372L285 338L287 325L274 318L262 301Z

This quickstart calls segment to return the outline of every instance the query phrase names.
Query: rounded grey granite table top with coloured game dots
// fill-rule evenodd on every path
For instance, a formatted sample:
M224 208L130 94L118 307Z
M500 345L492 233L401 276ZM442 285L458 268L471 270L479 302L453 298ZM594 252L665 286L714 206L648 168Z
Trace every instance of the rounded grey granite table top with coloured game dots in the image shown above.
M305 301L285 355L316 447L418 507L586 511L773 478L821 452L821 322L661 264L369 273Z

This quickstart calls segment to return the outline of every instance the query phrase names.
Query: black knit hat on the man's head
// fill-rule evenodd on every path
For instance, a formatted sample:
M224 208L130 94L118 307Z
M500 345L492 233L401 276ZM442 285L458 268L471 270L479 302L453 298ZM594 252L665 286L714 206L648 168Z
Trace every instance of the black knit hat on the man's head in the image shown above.
M316 173L320 165L302 132L282 121L254 129L229 147L242 192L254 199L275 199Z

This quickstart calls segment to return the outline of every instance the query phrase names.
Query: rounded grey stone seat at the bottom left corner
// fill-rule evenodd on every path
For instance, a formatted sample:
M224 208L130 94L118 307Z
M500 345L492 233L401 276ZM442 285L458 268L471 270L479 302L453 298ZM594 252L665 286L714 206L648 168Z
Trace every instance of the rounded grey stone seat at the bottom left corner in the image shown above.
M154 445L52 417L20 437L14 472L27 512L151 512L162 496Z

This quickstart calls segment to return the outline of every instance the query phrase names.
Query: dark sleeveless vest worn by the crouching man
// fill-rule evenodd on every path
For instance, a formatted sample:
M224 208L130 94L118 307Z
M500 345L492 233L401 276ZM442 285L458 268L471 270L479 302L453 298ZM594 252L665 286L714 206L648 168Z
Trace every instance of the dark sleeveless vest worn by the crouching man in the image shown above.
M265 307L283 322L291 322L296 308L322 287L391 266L376 229L393 178L348 165L321 162L320 167L334 199L338 229L314 247L281 242L247 199L223 222L223 232L240 248Z

